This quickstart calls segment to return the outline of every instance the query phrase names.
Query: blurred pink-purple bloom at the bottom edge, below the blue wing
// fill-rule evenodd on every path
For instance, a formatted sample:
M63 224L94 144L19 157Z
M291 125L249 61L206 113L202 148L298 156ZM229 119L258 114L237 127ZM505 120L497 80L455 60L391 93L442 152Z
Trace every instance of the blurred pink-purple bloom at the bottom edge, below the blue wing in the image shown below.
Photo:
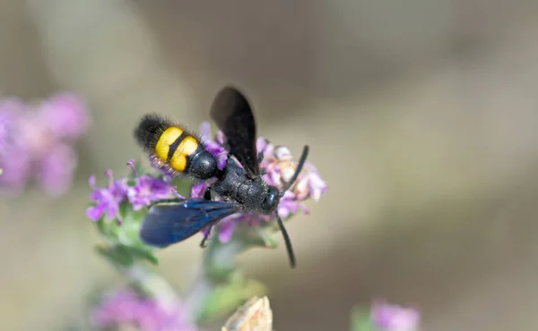
M182 305L170 307L127 288L109 294L93 311L100 328L136 327L141 331L195 331Z

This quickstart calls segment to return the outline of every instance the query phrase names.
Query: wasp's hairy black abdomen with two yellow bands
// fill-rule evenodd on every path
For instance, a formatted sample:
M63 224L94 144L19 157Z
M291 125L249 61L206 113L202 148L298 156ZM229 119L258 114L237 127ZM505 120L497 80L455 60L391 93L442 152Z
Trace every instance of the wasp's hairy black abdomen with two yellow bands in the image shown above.
M219 170L215 157L200 140L159 115L144 116L134 136L157 165L173 174L205 180Z

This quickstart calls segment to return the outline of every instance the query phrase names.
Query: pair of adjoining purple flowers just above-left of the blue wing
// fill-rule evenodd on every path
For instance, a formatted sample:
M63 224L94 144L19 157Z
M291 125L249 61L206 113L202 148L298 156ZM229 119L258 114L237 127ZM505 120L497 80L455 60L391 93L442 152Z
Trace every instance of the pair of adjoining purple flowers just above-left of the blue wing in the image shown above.
M133 180L120 178L114 180L112 171L107 170L105 175L108 179L106 187L97 187L95 175L91 175L88 182L93 190L91 200L93 206L86 210L86 216L93 221L99 221L101 217L107 216L108 221L116 219L121 223L123 216L120 213L120 205L124 202L132 205L133 210L140 210L144 206L149 206L152 201L172 198L172 186L169 182L153 177L149 174L138 174L134 167L134 160L127 163L130 165Z

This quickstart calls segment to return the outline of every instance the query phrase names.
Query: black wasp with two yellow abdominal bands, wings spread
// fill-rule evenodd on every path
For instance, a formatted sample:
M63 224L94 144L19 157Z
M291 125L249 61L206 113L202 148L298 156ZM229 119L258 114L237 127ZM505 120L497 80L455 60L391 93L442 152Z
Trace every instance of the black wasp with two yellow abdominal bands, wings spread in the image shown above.
M144 115L134 129L138 144L162 169L195 180L215 179L204 198L164 199L152 204L143 219L140 238L149 245L164 248L208 228L201 242L205 247L213 226L226 216L241 212L275 213L291 267L295 267L290 236L277 207L297 180L308 157L308 145L291 180L279 191L262 178L259 163L264 153L256 150L256 122L247 98L238 89L226 86L214 97L210 115L224 133L229 150L222 169L199 137L160 115ZM213 200L212 193L221 200Z

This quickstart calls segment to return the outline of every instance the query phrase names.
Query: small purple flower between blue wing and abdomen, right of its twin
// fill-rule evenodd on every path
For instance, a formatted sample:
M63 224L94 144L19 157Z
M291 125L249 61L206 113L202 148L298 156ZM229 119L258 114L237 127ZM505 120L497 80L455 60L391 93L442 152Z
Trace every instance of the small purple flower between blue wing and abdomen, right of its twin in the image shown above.
M134 168L134 160L129 161L127 165L131 165L134 174L136 174L134 186L129 186L127 189L127 197L134 210L150 206L152 201L171 198L172 185L169 182L164 182L148 174L141 176Z

